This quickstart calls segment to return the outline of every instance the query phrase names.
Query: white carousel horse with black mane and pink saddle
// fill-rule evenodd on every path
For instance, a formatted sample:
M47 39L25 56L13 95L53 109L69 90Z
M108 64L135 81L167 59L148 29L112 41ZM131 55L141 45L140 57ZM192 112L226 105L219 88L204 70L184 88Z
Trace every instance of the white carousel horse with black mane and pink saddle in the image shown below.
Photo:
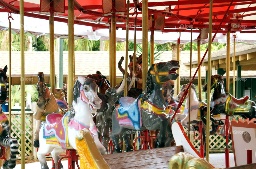
M55 113L46 116L46 121L40 126L40 146L37 152L42 169L48 169L46 154L51 153L54 163L57 164L59 153L63 150L76 150L75 136L84 128L89 129L101 154L106 154L106 149L98 139L97 128L91 117L91 112L96 112L102 103L97 96L97 87L93 79L78 76L73 88L74 101L69 112L65 115ZM63 168L61 163L60 168Z

